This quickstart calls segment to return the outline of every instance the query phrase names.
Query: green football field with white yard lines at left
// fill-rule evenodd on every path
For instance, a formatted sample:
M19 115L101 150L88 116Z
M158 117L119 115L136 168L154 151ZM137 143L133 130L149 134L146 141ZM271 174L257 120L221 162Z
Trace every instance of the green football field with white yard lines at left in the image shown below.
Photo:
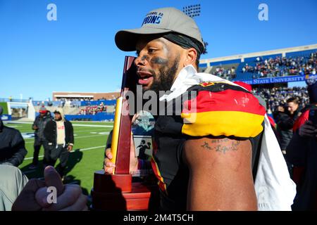
M66 168L66 183L79 184L85 194L90 194L94 182L94 171L102 168L104 159L104 148L108 133L113 127L111 122L72 122L74 128L75 145L73 152L68 158ZM27 155L20 169L30 178L42 178L43 166L42 160L44 150L41 148L39 152L39 167L37 169L29 169L33 158L34 138L27 136L33 133L32 123L8 123L8 127L18 129L24 136L25 148ZM59 162L56 162L57 167Z

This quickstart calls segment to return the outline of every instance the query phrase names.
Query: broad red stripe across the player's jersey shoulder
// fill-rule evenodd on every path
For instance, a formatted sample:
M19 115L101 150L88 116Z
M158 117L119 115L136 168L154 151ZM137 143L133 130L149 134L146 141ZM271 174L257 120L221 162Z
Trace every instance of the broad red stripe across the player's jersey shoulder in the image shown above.
M197 101L195 111L194 101ZM202 113L208 111L238 111L265 115L266 110L252 94L225 90L219 92L199 91L196 98L185 101L182 113Z

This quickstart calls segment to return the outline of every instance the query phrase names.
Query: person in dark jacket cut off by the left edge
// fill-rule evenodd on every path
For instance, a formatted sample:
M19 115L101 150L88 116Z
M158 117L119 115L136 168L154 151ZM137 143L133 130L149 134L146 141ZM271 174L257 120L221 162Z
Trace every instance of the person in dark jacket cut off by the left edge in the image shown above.
M23 162L27 150L20 131L4 126L0 106L0 164L18 167Z

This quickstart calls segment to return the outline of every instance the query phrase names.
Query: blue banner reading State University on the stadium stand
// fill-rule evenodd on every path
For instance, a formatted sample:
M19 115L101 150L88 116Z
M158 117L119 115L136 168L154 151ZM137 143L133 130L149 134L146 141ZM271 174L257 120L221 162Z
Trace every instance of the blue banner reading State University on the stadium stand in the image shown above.
M312 75L301 76L287 76L287 77L267 77L259 79L247 79L243 80L247 84L273 84L273 83L286 83L286 82L304 82L308 77Z

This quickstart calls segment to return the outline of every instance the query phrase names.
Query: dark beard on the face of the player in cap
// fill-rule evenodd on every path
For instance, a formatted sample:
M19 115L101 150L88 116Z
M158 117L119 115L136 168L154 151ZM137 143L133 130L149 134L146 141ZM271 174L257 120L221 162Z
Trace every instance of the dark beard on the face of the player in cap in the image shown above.
M170 87L173 85L176 72L178 71L179 63L180 63L180 57L178 56L177 58L175 58L173 66L168 68L168 70L165 70L166 67L161 68L159 70L160 72L159 79L155 79L155 77L158 77L158 76L154 75L154 80L153 80L153 83L151 84L150 90L155 91L156 94L159 94L159 91L170 90Z

